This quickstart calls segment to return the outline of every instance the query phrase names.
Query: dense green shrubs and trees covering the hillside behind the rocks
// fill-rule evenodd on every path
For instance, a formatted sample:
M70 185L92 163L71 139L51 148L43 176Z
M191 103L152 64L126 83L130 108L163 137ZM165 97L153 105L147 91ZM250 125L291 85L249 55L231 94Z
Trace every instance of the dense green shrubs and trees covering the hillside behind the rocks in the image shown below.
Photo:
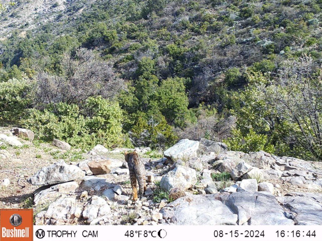
M0 41L1 125L82 148L204 137L322 159L322 0L66 5Z

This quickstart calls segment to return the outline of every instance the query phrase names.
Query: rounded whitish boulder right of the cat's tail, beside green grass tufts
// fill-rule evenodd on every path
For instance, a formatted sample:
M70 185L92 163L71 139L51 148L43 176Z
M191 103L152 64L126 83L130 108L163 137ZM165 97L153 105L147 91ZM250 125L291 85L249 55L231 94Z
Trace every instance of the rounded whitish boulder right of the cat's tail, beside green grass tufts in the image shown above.
M163 190L170 191L173 188L184 190L191 188L197 182L196 171L189 167L177 166L164 175L160 181Z

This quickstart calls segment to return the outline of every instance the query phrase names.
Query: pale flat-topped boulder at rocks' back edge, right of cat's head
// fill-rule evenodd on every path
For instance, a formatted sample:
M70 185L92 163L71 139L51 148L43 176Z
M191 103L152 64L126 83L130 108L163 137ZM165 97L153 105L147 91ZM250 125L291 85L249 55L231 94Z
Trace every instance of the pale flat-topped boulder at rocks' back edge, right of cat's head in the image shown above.
M166 158L172 160L177 159L188 159L197 156L197 151L199 148L198 141L192 141L189 139L182 139L174 146L167 149L163 154Z

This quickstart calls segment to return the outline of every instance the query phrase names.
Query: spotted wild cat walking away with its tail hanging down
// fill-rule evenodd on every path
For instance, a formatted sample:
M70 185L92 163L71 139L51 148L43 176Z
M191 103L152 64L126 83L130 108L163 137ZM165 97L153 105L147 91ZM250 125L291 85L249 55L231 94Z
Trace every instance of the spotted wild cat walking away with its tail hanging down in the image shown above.
M145 183L145 167L144 164L136 152L125 152L125 161L128 162L128 169L130 171L130 180L133 190L133 200L137 200L137 182L139 184L139 196L142 196L143 192L147 190Z

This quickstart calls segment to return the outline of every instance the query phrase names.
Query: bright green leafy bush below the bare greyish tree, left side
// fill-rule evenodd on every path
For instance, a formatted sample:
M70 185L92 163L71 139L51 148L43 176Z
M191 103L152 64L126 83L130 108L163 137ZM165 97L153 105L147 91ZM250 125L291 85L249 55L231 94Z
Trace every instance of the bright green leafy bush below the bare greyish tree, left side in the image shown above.
M118 103L90 97L83 110L62 102L50 104L43 111L31 109L24 126L44 141L57 138L82 149L96 144L111 148L125 142L122 119Z

